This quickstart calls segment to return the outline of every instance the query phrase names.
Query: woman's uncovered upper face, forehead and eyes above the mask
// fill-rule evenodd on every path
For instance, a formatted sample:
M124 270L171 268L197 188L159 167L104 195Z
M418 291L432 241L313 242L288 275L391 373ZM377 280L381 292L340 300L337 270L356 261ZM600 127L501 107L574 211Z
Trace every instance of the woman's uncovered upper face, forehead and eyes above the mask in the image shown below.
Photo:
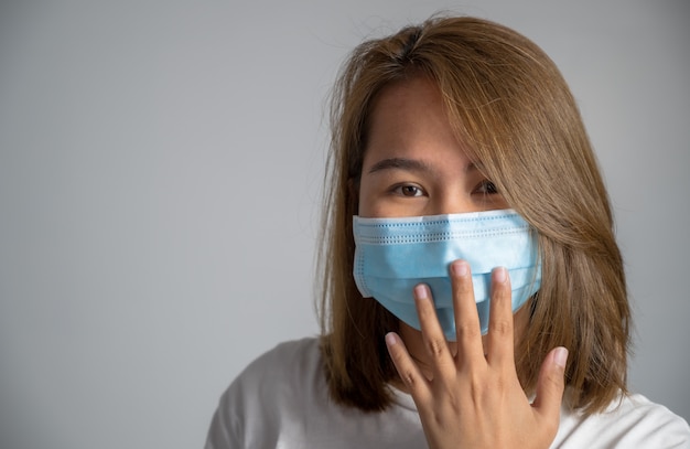
M359 184L359 215L401 217L507 209L467 158L439 89L414 77L374 104Z

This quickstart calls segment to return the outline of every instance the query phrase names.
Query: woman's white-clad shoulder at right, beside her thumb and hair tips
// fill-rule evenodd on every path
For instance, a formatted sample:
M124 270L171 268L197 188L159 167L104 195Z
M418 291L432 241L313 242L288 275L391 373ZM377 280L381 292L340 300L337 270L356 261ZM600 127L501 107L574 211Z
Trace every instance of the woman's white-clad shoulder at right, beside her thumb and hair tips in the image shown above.
M639 394L622 395L603 413L561 410L554 447L690 448L690 427L668 408Z

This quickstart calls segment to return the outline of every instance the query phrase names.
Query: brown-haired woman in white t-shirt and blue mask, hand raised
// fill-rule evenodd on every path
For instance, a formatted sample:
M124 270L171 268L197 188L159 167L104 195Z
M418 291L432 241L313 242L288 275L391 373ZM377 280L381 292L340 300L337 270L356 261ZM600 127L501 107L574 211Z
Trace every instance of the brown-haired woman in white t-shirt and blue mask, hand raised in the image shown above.
M207 448L690 446L626 389L607 194L539 47L406 28L354 51L332 120L322 336L247 367Z

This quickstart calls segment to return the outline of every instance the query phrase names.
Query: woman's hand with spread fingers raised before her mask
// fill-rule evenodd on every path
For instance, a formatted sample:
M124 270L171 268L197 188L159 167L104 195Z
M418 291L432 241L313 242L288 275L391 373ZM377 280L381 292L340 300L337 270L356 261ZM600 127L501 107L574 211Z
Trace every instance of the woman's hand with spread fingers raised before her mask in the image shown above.
M457 330L455 355L443 336L429 288L414 288L431 379L422 374L398 334L386 335L400 378L417 404L429 447L548 448L558 431L568 351L557 348L546 356L530 404L515 368L507 270L496 268L492 274L486 349L467 263L451 265L451 281Z

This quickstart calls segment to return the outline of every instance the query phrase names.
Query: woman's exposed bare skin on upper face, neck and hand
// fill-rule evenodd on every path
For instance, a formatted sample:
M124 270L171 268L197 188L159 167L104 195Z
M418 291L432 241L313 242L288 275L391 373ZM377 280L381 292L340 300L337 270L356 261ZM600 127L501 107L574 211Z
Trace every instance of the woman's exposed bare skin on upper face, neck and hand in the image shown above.
M452 131L441 94L423 77L386 87L374 104L359 185L359 215L401 217L508 209L467 158ZM386 336L412 395L430 448L548 448L556 437L568 351L552 350L530 404L518 381L514 346L528 307L510 309L510 279L492 274L490 322L481 334L472 276L451 264L457 341L448 342L427 286L414 289L421 331L400 323Z

